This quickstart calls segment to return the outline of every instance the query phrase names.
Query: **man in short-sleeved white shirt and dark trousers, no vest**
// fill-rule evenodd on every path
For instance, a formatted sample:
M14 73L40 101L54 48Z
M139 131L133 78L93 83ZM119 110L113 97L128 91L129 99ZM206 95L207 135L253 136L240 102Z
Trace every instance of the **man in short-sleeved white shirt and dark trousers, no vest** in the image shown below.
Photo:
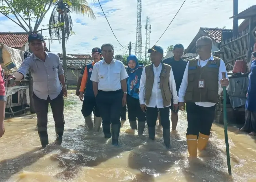
M93 81L93 91L102 118L104 136L112 137L112 145L118 146L121 110L126 105L128 74L123 62L113 59L112 44L103 44L101 51L104 59L94 65L90 80Z

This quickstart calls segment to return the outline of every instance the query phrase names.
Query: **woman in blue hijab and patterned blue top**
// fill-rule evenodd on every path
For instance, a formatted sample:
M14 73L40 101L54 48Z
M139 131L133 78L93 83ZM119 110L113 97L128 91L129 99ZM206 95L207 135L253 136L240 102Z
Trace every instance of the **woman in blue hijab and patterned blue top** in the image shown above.
M140 108L139 101L139 88L140 78L143 70L143 66L140 66L135 55L129 55L127 57L127 110L130 126L132 130L137 129L138 134L142 135L146 123L146 114ZM138 128L137 122L138 119Z

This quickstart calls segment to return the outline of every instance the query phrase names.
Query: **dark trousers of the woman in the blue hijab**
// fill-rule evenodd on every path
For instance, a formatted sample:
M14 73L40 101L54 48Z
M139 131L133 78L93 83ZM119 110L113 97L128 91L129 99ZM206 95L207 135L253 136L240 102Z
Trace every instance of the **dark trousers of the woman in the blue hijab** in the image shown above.
M146 113L142 111L140 108L139 99L133 98L129 94L127 94L127 109L128 109L128 118L129 121L146 121Z

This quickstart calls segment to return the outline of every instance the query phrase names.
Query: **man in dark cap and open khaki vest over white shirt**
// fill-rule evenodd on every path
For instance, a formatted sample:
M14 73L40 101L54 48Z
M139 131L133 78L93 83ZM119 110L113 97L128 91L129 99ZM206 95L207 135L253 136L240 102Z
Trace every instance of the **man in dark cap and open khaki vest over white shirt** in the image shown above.
M152 60L151 65L144 67L140 80L140 105L146 111L148 125L148 136L155 140L156 120L160 112L161 125L163 127L163 142L167 148L170 147L170 106L173 95L173 107L178 108L178 96L176 84L170 65L164 64L163 49L154 45L148 50Z

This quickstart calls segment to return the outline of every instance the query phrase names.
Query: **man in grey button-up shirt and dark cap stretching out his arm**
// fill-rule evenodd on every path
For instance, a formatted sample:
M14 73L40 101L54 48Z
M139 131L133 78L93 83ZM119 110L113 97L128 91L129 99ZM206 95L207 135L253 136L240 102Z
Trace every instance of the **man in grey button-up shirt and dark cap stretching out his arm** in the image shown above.
M45 41L40 33L32 33L28 36L29 48L33 54L27 57L19 69L9 76L20 81L30 71L33 77L33 100L37 114L37 128L42 147L48 141L47 114L51 105L57 142L62 142L64 131L64 97L67 97L67 89L64 79L64 71L59 56L45 52Z

